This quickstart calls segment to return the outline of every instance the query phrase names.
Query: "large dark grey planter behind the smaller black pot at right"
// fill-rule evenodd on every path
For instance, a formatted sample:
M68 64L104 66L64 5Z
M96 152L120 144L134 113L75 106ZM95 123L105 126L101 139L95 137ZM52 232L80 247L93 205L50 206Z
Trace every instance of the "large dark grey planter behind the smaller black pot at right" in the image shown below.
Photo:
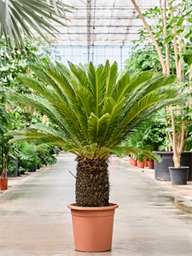
M169 167L174 166L172 152L154 151L163 159L162 162L154 161L154 178L158 180L171 180ZM192 181L192 151L184 151L181 154L181 166L189 166L188 181Z

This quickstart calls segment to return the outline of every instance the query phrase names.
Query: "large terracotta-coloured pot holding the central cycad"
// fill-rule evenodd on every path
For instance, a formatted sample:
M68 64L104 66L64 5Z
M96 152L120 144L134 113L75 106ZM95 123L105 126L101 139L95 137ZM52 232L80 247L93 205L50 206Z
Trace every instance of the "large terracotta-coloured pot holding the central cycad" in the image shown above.
M110 207L76 207L68 205L73 220L75 250L81 252L105 252L111 250L114 209Z

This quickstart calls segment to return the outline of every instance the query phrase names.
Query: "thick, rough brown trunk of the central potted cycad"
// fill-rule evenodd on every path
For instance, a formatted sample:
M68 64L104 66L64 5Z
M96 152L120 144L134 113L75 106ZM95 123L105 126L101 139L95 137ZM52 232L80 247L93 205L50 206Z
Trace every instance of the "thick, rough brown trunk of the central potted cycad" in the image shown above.
M76 158L76 205L78 207L108 207L108 160L101 158Z

